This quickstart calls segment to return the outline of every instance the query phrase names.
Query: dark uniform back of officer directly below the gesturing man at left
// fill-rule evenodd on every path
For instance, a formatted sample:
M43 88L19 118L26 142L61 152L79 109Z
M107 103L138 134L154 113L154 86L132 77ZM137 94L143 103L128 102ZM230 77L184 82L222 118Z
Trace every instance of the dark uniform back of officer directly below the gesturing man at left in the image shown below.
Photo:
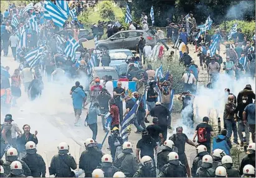
M45 162L40 154L26 154L22 159L31 169L32 177L45 177Z

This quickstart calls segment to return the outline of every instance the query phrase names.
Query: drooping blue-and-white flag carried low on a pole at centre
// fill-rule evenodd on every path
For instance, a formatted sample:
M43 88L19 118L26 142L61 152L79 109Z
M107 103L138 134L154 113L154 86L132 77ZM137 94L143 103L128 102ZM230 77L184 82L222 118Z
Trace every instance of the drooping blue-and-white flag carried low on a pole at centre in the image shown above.
M123 141L128 141L128 136L130 135L130 131L128 129L129 125L133 123L133 120L136 116L136 113L138 111L139 105L141 100L137 100L135 105L133 105L133 108L130 110L130 112L127 113L125 118L123 119L123 122L121 122L121 137L123 138Z

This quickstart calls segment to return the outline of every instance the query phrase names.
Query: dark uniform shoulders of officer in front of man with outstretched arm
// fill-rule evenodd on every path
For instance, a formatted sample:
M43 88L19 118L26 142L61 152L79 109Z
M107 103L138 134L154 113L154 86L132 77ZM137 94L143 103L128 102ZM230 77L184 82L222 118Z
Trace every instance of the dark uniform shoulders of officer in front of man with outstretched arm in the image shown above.
M181 163L178 165L168 163L163 166L163 171L158 177L187 177L186 167Z

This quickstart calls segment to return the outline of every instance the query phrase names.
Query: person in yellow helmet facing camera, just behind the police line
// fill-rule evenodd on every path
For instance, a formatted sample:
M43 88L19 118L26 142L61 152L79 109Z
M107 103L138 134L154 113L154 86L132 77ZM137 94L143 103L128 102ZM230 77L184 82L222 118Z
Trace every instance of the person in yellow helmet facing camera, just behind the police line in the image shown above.
M120 134L119 128L114 127L111 130L111 135L108 136L108 145L109 145L110 153L111 153L113 160L115 160L116 148L118 146L123 145L123 139L121 138L121 136L119 136L119 134Z

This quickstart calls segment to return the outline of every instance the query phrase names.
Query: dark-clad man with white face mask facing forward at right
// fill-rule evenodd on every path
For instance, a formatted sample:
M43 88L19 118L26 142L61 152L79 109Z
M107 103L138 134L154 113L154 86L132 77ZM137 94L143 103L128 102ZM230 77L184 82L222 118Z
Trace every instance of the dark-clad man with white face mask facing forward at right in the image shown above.
M248 97L242 96L242 102L237 104L237 107L235 107L235 120L237 120L237 122L238 122L238 131L237 132L239 135L241 147L244 146L244 136L242 133L243 130L245 131L245 138L246 138L245 141L247 143L250 142L250 133L249 133L248 125L244 125L244 122L243 122L243 112L247 105L249 105Z

